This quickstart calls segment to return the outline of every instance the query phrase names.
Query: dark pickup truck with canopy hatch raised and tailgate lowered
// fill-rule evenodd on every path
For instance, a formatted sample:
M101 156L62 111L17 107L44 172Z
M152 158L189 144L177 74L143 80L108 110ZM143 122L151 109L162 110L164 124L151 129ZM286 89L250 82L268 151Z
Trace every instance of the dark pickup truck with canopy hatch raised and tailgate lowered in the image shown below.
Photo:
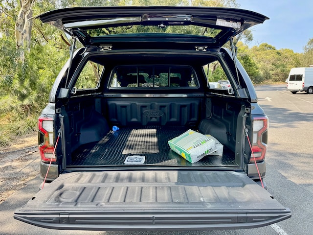
M16 219L52 229L171 231L291 217L262 182L268 118L233 45L267 17L155 6L37 18L73 41L38 121L45 185ZM218 77L231 88L211 87ZM188 130L216 138L223 154L186 161L168 141Z

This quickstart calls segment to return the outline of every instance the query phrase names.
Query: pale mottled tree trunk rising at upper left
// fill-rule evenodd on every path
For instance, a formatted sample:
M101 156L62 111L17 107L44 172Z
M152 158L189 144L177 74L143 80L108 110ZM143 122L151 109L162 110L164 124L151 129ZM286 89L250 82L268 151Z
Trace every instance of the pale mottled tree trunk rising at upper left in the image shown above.
M21 9L15 22L15 43L20 50L20 60L24 61L24 49L30 50L31 28L33 25L33 10L36 0L20 0Z

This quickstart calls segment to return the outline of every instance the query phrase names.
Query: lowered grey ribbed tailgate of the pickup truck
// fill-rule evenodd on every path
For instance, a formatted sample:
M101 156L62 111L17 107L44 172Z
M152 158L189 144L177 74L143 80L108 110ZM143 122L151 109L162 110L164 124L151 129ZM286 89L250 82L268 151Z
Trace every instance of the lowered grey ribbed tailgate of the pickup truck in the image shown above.
M168 231L255 228L291 212L244 173L136 170L63 174L14 217L52 229Z

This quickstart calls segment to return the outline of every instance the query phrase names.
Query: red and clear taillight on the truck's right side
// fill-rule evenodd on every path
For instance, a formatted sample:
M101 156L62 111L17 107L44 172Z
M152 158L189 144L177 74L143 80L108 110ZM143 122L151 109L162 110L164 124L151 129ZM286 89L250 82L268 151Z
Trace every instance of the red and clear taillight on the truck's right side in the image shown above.
M268 144L268 117L254 117L252 131L252 151L256 162L261 162L265 158ZM252 155L250 163L254 163Z

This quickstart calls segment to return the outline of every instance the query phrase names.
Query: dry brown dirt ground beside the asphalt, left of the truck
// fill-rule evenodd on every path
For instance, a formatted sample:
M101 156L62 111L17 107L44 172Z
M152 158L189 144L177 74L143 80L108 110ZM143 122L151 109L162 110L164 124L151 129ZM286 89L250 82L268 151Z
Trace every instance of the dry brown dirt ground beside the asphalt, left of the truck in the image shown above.
M39 174L37 132L0 147L0 203Z

